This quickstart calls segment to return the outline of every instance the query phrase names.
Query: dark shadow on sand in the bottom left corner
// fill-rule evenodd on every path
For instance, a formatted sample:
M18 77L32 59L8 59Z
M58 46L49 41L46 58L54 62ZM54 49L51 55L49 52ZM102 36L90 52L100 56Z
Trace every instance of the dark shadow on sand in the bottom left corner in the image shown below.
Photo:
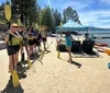
M18 88L13 88L12 80L10 79L1 93L24 93L24 90L22 89L21 84Z

